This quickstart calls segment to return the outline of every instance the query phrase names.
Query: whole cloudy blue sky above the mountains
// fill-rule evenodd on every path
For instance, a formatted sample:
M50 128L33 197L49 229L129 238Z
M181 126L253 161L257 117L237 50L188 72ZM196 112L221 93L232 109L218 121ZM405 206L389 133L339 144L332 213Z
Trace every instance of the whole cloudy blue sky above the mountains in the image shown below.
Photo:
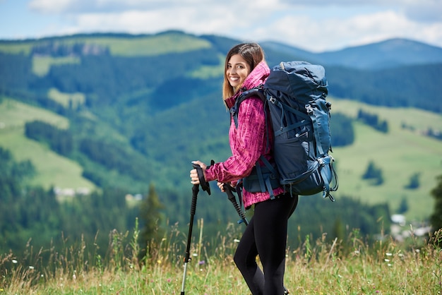
M311 52L396 37L442 47L442 0L0 0L0 40L165 30Z

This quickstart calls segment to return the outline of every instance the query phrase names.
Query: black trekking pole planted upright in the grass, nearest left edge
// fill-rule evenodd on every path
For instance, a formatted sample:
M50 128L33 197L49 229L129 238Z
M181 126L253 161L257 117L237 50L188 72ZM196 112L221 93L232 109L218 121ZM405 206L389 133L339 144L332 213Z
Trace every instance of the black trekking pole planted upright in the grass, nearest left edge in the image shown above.
M203 188L203 191L207 191L210 195L210 186L209 183L205 181L203 169L198 164L193 164L193 168L198 172L198 179L200 184L193 184L192 187L192 204L191 204L191 219L189 222L189 234L187 234L187 246L186 246L186 255L184 257L184 273L183 273L183 283L181 284L181 295L185 294L184 285L186 284L186 273L187 273L187 263L191 260L191 239L192 239L192 229L193 229L193 217L195 216L196 211L196 199L198 198L199 186Z

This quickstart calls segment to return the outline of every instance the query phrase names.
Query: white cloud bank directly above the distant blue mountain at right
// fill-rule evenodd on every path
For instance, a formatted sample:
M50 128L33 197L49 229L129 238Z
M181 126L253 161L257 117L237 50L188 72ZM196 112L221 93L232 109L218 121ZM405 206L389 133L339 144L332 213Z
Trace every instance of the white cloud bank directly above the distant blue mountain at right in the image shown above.
M313 52L405 37L442 44L442 23L417 23L395 11L366 13L350 18L285 16L268 26L251 30L256 40L274 40Z

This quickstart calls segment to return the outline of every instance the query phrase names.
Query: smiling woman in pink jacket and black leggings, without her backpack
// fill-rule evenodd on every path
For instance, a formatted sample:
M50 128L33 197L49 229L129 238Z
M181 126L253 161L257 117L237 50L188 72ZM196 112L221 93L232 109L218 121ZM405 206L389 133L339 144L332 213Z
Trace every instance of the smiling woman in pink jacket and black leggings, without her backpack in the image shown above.
M227 108L234 106L241 92L263 84L269 73L263 49L258 44L238 44L230 49L222 85ZM200 161L193 162L203 169L205 181L216 180L222 191L224 183L236 186L238 181L256 171L253 168L256 163L260 164L261 155L270 163L274 162L271 151L273 133L266 130L271 126L268 122L266 124L262 100L250 97L241 102L238 112L237 126L231 118L229 129L232 156L210 167ZM199 183L196 169L190 171L190 177L191 183ZM244 207L249 210L253 205L254 212L239 241L234 262L252 294L287 294L283 282L287 221L297 207L298 196L285 193L279 185L272 191L275 196L272 199L268 191L251 192L244 188L242 194ZM256 263L257 255L263 270Z

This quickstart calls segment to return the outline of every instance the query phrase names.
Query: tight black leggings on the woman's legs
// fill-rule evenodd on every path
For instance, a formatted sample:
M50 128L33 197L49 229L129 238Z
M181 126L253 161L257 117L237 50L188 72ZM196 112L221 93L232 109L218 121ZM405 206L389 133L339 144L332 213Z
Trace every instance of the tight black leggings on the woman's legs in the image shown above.
M234 262L253 295L284 294L287 221L297 203L297 195L286 193L255 205L234 255ZM257 255L263 271L256 263Z

